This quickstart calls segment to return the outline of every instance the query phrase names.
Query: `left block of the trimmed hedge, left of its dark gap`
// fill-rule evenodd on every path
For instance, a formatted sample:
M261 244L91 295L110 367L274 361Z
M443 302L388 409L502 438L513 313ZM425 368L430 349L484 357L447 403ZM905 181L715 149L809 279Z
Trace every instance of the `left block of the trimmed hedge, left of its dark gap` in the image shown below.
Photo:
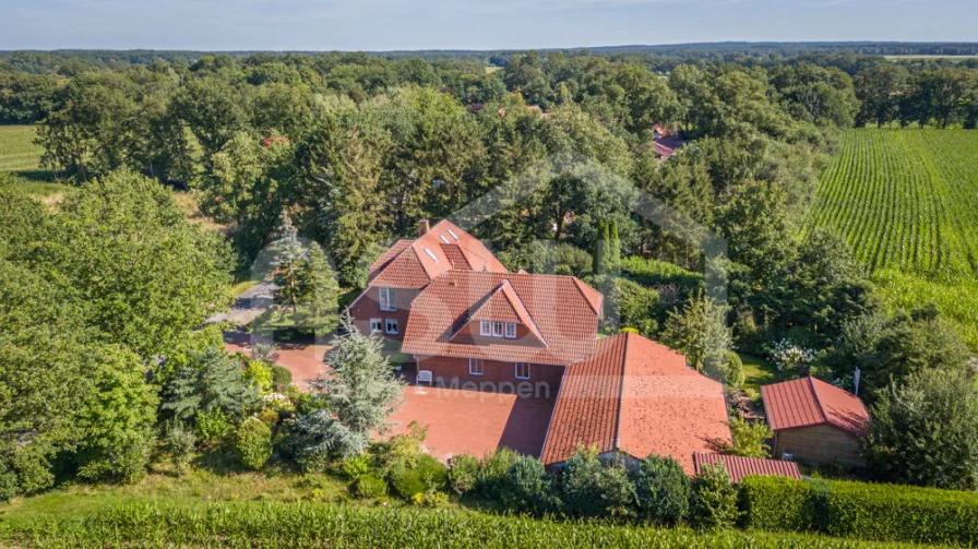
M750 476L740 481L743 526L764 530L815 527L812 486L794 478Z

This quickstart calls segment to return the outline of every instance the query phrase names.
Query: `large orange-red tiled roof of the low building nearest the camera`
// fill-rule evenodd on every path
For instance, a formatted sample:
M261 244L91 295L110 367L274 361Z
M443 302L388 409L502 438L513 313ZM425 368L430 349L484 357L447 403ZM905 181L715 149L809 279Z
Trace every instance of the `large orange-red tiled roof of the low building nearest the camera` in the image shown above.
M627 333L601 339L594 356L568 367L541 460L569 460L579 444L637 460L672 456L693 474L693 453L729 443L723 385L681 354Z

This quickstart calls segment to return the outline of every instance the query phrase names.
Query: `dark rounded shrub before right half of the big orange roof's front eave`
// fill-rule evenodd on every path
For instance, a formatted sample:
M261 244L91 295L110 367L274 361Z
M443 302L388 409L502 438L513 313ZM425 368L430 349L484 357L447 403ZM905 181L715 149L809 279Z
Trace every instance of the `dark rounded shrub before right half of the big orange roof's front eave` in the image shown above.
M635 477L643 518L657 524L677 524L687 517L692 487L679 462L649 455L642 462Z

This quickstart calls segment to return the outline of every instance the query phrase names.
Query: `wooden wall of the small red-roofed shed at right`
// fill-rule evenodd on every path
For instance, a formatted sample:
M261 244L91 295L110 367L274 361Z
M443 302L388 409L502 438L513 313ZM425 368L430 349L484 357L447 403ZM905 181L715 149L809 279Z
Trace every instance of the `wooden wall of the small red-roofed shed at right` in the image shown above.
M836 427L819 425L785 429L777 431L775 438L777 442L774 455L778 458L784 452L791 452L799 462L842 462L852 466L866 464L859 457L859 438Z

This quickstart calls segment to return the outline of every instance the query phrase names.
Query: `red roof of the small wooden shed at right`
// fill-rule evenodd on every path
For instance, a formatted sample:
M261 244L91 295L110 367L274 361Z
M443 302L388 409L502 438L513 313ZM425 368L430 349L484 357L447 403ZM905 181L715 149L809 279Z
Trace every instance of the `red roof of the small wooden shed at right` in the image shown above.
M869 411L858 396L815 378L764 385L761 396L775 431L831 425L862 435L869 427Z

